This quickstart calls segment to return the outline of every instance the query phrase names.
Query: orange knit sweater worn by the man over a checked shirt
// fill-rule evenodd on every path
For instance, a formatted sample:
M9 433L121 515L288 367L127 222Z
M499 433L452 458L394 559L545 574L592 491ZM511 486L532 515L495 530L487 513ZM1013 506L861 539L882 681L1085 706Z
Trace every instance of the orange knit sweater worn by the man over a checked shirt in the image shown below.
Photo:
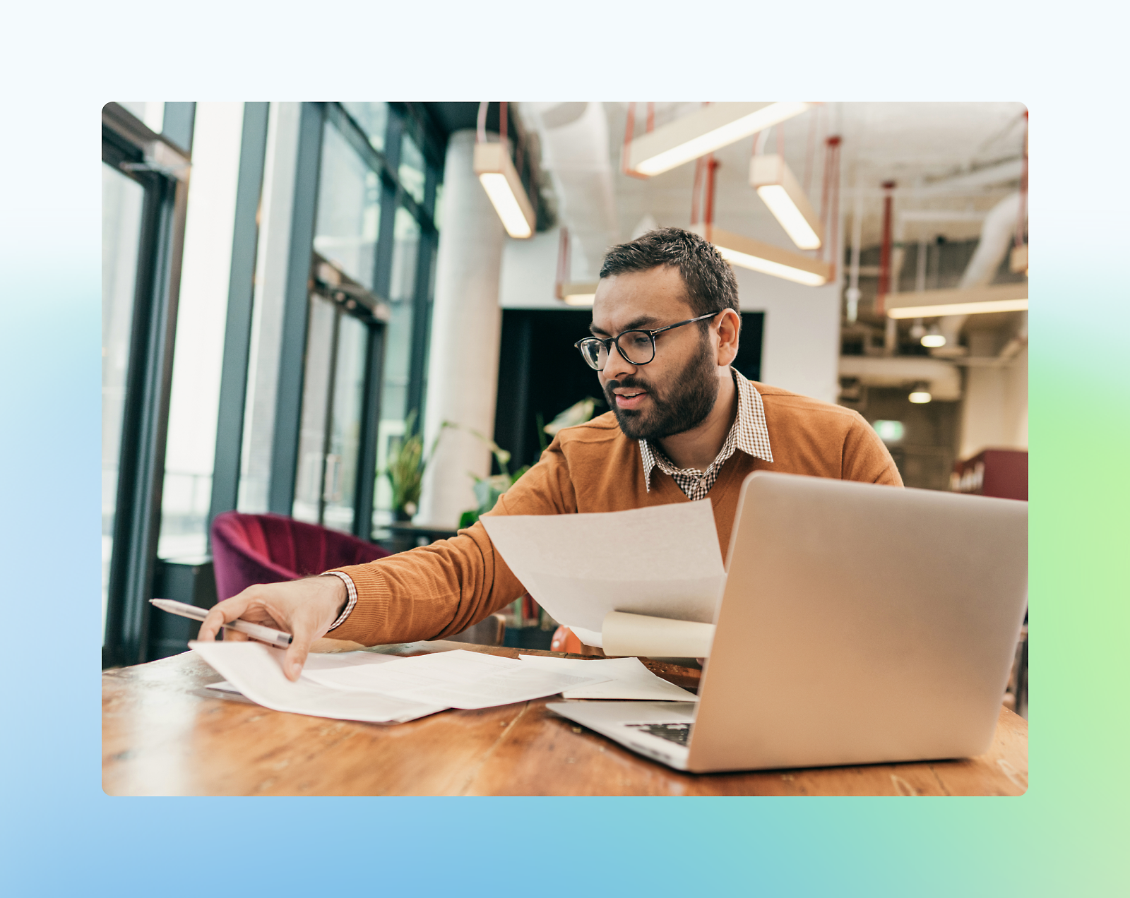
M723 556L741 483L753 471L902 486L890 453L858 412L774 386L754 386L765 407L773 462L736 452L722 465L707 495ZM687 500L658 470L646 490L638 444L624 436L607 412L559 431L490 514L619 512ZM525 592L483 524L450 540L339 569L353 577L357 604L332 636L366 645L450 636Z

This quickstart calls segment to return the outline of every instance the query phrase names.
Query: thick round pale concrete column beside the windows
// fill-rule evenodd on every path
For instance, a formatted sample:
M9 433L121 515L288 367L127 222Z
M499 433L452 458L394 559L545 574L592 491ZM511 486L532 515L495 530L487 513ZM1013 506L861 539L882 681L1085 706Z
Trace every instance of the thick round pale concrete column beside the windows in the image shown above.
M447 143L436 258L432 346L425 398L425 446L444 421L492 437L498 389L502 309L498 278L506 239L502 223L472 171L475 132ZM469 472L486 477L490 451L466 429L447 429L424 477L417 521L454 526L476 506Z

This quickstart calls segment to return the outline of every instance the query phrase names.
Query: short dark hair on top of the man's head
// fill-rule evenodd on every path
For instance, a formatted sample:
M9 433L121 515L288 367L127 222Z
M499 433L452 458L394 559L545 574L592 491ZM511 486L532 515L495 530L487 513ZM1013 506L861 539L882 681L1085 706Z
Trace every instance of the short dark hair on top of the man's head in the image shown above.
M679 269L694 315L721 312L723 308L732 308L741 315L738 280L730 263L714 249L714 244L683 228L649 230L634 241L614 246L605 255L600 277L650 271L660 265Z

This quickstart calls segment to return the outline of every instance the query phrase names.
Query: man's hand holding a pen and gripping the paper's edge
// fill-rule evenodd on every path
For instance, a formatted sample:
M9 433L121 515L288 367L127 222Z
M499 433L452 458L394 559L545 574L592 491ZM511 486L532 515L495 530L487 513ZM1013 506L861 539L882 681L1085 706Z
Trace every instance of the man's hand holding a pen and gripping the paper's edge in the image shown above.
M238 595L215 605L201 622L197 638L201 642L215 639L220 625L236 618L289 633L294 642L286 651L282 672L287 679L297 680L310 654L310 644L325 635L330 625L345 611L347 601L346 585L334 576L249 586ZM224 638L245 640L250 637L227 630Z

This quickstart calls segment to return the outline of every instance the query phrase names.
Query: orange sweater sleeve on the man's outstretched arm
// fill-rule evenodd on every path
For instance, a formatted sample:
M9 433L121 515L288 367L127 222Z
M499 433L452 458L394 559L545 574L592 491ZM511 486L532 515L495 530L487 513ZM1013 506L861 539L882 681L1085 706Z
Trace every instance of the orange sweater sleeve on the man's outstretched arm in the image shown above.
M489 514L575 511L568 464L555 439ZM363 645L451 636L525 592L480 523L449 540L336 570L353 579L357 604L333 638Z

